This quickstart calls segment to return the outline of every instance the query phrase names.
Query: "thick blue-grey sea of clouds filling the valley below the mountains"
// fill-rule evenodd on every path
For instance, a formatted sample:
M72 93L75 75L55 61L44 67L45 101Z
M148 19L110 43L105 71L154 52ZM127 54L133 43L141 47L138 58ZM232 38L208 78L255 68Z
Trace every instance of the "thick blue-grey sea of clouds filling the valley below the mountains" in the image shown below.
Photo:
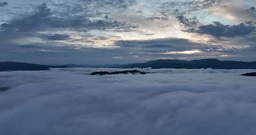
M256 70L0 72L0 135L256 135Z

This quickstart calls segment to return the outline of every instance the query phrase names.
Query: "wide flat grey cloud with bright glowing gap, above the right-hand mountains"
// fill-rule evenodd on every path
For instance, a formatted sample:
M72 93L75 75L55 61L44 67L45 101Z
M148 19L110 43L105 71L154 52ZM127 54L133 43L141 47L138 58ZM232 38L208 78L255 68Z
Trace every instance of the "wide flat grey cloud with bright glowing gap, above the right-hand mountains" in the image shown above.
M181 56L186 57L222 57L244 55L255 52L254 45L245 48L225 47L221 44L211 45L208 43L202 44L180 38L165 38L155 40L120 40L115 43L120 48L133 51L135 54L140 52L140 55L150 56L154 54L161 58L178 59ZM190 53L191 52L191 53ZM214 55L213 55L214 54Z

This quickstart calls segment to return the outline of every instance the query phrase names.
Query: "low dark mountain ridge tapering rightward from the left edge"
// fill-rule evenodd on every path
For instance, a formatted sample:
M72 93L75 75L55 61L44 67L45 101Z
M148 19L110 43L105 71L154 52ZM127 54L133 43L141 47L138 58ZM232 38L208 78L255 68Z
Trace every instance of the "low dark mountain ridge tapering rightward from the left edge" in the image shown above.
M39 71L49 68L67 68L66 66L50 66L20 62L0 62L0 71Z

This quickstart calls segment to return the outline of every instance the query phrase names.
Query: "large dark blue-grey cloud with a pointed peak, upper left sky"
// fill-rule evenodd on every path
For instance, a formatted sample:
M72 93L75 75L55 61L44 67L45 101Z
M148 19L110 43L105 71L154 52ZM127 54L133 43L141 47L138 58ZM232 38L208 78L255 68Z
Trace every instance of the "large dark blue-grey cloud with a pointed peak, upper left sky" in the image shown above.
M106 29L115 27L126 27L124 22L118 22L111 20L111 18L105 18L105 20L91 21L86 16L66 16L56 17L51 8L48 8L46 3L39 5L36 11L29 15L24 16L17 20L12 20L10 23L1 24L1 30L30 32L36 30L48 30L50 28L96 28Z

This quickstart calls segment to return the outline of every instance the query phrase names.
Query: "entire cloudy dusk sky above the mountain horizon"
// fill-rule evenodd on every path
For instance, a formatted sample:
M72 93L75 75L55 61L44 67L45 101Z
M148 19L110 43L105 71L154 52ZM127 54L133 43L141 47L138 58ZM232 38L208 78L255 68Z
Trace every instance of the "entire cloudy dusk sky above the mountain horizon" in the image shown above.
M4 0L0 61L256 61L255 0Z

